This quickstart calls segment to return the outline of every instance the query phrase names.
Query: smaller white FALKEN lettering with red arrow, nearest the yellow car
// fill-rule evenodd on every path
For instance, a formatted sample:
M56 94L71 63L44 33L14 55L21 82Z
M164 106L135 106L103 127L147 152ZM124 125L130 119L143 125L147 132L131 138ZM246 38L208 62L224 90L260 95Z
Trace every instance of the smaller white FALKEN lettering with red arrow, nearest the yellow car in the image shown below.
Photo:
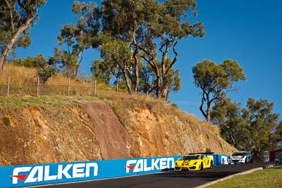
M126 173L148 172L152 170L162 170L174 168L174 158L152 158L152 159L133 159L126 161Z

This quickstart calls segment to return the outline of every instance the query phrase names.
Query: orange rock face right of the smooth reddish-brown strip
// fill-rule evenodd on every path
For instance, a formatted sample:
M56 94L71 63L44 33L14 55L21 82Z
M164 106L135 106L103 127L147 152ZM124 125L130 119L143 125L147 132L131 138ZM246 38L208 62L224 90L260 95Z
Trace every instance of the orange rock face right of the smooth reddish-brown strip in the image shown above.
M132 127L129 130L133 140L130 152L133 156L169 156L194 152L214 151L232 153L215 127L192 115L153 114L149 108L135 108L130 111ZM192 119L192 120L191 120Z

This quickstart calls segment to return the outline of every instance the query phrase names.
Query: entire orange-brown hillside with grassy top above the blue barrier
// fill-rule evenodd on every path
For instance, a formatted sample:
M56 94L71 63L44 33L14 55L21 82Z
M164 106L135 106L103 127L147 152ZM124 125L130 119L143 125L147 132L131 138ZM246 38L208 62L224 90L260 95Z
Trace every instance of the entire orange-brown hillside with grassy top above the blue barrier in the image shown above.
M32 71L12 65L0 77L0 165L235 151L218 127L149 96L99 89L94 98L77 95L74 87L73 96L36 97L16 87L5 96L9 74L17 78L13 85L30 84L36 82ZM47 87L61 87L58 80L67 82L57 75Z

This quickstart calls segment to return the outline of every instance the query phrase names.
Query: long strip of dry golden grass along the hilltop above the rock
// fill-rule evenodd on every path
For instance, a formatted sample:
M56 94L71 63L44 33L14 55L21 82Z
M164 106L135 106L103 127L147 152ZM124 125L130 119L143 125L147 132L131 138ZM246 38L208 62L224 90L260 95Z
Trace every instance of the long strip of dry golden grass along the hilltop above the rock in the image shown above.
M11 86L10 94L18 96L36 96L37 95L37 70L35 68L19 67L12 64L4 66L4 74L0 75L0 94L6 95L6 88L10 76ZM66 96L68 95L68 77L57 74L51 77L46 84L40 85L39 96ZM83 79L71 80L71 96L94 96L94 82ZM128 94L125 91L118 91L112 87L97 83L97 99L106 101L114 109L118 118L125 125L128 120L128 111L135 107L149 108L155 114L177 115L180 120L191 126L207 125L195 115L183 113L177 106L168 104L163 99L154 99L151 96L142 96L138 94ZM216 130L214 132L217 132Z

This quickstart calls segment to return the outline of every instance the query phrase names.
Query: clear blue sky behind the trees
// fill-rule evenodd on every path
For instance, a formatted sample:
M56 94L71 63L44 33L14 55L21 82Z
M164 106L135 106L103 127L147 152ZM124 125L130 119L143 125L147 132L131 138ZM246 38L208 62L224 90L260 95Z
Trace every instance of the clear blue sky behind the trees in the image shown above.
M98 4L100 1L96 1ZM32 44L18 49L19 58L43 54L48 58L56 37L66 23L75 23L71 12L72 0L49 0L39 12L40 19L30 30ZM282 6L280 0L198 0L198 16L191 22L204 24L202 38L183 39L177 47L182 89L171 94L171 103L183 111L203 119L199 111L201 91L192 80L192 67L203 59L223 63L231 58L238 61L247 76L245 82L235 83L236 92L228 97L244 106L247 99L267 99L274 102L274 113L282 114ZM80 69L89 73L91 61L99 58L97 51L89 50Z

